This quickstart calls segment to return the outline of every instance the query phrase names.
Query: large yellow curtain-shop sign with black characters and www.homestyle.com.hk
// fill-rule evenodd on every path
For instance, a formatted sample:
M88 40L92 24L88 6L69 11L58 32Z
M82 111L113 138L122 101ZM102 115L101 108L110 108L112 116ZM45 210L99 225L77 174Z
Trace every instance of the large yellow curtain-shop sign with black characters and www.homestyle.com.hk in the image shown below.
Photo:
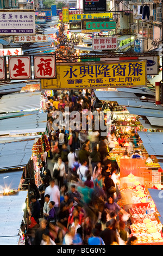
M57 63L57 79L42 79L42 90L146 86L146 60Z

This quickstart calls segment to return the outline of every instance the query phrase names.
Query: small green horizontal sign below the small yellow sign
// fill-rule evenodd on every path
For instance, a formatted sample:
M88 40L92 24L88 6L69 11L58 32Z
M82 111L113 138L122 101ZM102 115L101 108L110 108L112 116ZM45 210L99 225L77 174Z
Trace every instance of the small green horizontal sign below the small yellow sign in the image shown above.
M103 22L86 22L86 29L115 29L115 21L103 21Z

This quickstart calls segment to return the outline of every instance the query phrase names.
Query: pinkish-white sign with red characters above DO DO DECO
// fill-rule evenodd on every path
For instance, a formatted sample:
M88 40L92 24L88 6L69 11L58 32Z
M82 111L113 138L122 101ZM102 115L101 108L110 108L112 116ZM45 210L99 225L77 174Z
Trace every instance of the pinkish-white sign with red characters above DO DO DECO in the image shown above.
M94 37L92 38L93 50L112 50L117 49L116 37Z

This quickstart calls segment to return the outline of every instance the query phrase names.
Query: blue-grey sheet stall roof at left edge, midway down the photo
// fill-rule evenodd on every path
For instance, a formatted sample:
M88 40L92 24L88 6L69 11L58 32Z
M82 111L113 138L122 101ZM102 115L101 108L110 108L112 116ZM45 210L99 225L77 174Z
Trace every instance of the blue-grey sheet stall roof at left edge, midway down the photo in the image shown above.
M0 170L26 166L32 156L33 145L34 139L0 143Z

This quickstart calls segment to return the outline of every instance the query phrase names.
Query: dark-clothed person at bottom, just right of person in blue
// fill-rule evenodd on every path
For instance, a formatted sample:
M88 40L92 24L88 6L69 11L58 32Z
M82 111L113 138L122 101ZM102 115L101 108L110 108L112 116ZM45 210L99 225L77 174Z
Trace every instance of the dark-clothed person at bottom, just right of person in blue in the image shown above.
M112 225L110 221L106 222L106 228L101 232L99 236L103 239L105 245L111 245L112 242L118 243L118 237L116 235L116 231L112 229Z

